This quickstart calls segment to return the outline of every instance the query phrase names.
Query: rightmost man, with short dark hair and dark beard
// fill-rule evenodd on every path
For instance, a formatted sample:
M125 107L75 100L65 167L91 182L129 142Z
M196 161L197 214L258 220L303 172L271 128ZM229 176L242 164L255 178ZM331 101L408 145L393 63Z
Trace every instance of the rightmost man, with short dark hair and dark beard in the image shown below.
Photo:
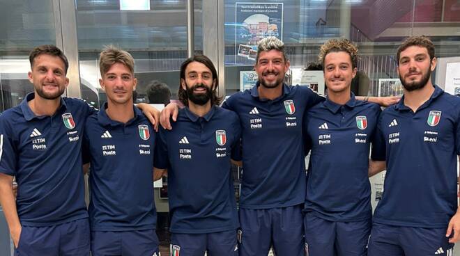
M452 256L460 239L460 98L431 83L436 58L429 38L405 40L397 61L404 96L378 121L387 173L369 255Z

